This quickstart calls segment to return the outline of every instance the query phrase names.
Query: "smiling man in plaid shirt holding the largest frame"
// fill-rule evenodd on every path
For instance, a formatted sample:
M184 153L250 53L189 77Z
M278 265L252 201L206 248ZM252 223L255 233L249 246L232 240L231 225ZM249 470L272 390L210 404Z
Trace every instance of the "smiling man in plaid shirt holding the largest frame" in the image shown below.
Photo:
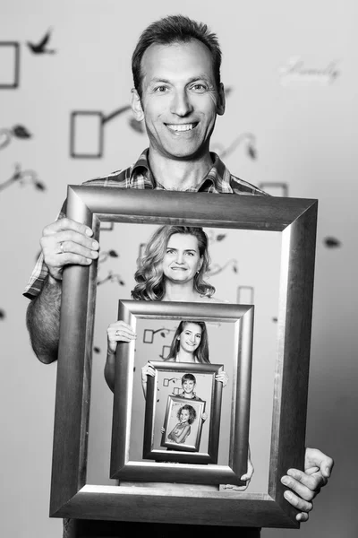
M217 115L225 112L220 64L217 37L206 25L181 15L149 25L132 56L132 110L137 120L145 122L149 150L129 169L88 185L265 195L235 178L209 152ZM42 362L57 358L64 266L90 265L98 257L98 242L91 236L92 230L66 218L43 231L42 257L25 291L32 299L27 313L31 343ZM311 501L327 483L332 467L331 458L307 448L305 472L291 469L282 478L290 488L286 499L301 511L298 521L307 521ZM260 534L254 531L247 535Z

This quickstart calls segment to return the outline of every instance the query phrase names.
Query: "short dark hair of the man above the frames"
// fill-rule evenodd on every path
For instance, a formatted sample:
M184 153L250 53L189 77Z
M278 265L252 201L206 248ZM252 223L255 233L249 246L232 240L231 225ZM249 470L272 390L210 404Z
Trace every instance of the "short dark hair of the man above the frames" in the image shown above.
M142 31L141 37L132 54L132 74L134 88L141 97L141 58L150 45L170 45L172 43L188 43L192 39L198 39L207 48L212 58L215 82L217 90L220 86L221 50L217 35L203 22L195 22L184 15L169 15L159 21L152 22Z

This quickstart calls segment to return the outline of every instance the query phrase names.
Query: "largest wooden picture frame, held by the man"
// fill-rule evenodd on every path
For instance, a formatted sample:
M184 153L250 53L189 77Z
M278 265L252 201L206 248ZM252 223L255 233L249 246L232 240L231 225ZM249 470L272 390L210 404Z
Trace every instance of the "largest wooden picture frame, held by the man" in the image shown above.
M278 351L268 492L92 486L86 483L97 265L64 270L57 364L50 515L204 524L298 527L281 476L303 468L311 347L317 200L68 187L67 216L282 232Z

